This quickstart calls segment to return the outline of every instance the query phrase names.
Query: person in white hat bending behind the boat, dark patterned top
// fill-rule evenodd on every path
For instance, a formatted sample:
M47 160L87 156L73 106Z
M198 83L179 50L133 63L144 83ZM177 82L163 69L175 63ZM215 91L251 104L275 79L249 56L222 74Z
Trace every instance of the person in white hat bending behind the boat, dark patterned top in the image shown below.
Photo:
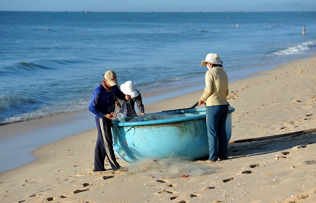
M137 113L135 111L135 102L137 103L137 107L141 115L145 114L144 104L142 101L142 96L137 90L137 84L131 80L126 81L125 83L120 85L120 90L125 95L130 95L130 100L121 100L118 98L116 102L115 112L122 113L124 117L135 117Z

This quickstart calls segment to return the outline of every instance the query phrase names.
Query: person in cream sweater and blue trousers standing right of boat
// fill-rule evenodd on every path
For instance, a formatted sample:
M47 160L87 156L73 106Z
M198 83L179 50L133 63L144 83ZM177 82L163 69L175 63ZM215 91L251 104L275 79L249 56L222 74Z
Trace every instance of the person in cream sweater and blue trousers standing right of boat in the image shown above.
M223 61L217 54L207 54L202 67L205 73L205 89L198 105L206 106L206 129L209 146L208 162L227 159L226 118L228 113L228 77Z

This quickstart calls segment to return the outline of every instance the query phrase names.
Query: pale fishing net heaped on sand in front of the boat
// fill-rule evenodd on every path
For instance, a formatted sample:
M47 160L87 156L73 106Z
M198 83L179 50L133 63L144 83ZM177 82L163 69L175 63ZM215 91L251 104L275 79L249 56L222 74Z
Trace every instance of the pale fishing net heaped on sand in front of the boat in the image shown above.
M215 168L209 164L199 164L196 161L188 161L175 157L137 161L129 166L128 170L140 175L157 178L190 177L215 172Z

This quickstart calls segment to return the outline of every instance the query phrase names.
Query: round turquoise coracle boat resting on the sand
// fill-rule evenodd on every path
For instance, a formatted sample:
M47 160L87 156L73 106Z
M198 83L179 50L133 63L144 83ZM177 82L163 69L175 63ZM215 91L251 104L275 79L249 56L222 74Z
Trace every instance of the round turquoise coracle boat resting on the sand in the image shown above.
M229 107L226 120L228 142L232 135L232 112ZM112 120L113 144L125 153L116 155L129 163L144 159L181 157L208 158L208 138L205 122L206 107L150 113L125 118L126 122Z

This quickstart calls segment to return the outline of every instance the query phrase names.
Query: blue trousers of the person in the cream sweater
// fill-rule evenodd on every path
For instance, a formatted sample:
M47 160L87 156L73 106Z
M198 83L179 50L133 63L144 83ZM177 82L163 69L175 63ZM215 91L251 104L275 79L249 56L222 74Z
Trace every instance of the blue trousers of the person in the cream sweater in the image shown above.
M209 159L227 159L226 118L228 105L206 106Z

